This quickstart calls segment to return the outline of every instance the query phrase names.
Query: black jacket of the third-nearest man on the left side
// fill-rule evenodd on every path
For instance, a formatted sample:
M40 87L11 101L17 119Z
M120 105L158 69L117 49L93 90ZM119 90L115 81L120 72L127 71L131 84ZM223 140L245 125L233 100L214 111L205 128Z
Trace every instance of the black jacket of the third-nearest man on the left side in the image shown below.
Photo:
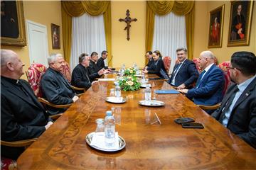
M75 69L73 69L71 84L85 89L89 89L90 86L92 86L88 71L82 64L78 64Z

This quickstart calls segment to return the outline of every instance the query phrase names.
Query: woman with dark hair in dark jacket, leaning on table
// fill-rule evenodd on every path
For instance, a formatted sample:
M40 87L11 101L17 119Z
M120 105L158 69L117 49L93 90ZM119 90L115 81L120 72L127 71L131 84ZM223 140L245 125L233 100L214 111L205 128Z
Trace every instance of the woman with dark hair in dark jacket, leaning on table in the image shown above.
M154 60L154 64L144 69L143 72L149 74L156 74L161 78L169 79L166 69L164 68L164 62L162 60L161 52L159 52L159 50L154 51L152 57Z

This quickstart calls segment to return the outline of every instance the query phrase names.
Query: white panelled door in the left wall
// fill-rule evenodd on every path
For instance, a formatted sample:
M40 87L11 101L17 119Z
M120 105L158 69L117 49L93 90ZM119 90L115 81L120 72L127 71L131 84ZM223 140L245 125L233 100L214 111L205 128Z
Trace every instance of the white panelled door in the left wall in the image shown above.
M30 63L41 63L48 67L47 28L40 23L26 21Z

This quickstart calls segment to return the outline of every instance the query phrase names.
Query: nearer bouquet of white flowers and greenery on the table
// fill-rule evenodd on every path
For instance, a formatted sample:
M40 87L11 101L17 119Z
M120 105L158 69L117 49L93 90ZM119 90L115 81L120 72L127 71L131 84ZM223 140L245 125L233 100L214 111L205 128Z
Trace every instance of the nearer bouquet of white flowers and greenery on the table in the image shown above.
M123 91L136 91L140 89L141 84L139 83L137 77L122 77L119 79L119 86Z

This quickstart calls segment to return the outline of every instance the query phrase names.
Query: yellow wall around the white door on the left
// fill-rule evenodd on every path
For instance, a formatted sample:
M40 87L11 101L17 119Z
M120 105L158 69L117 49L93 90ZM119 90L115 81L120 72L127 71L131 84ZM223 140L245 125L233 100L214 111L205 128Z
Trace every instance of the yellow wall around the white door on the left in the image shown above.
M25 26L26 26L26 20L28 19L36 23L41 23L47 27L49 54L52 52L60 52L63 54L60 1L23 1L23 10L24 10ZM58 50L53 50L52 48L50 23L55 23L56 25L60 26L60 49ZM28 35L26 35L26 40L28 43ZM28 69L30 64L28 45L25 47L1 45L1 49L14 50L21 57L21 60L25 64L25 67L23 67L23 70L25 71ZM26 79L26 76L23 75L23 77L21 78Z

